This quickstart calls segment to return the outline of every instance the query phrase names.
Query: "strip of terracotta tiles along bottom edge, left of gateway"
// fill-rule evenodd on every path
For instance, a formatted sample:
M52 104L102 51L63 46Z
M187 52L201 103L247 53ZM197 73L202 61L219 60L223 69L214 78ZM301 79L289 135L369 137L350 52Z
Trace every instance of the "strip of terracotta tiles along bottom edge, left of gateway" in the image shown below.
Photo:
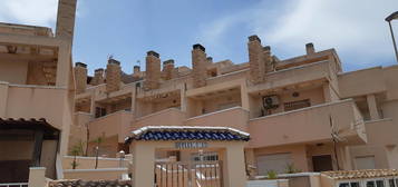
M49 187L132 187L130 180L54 180Z

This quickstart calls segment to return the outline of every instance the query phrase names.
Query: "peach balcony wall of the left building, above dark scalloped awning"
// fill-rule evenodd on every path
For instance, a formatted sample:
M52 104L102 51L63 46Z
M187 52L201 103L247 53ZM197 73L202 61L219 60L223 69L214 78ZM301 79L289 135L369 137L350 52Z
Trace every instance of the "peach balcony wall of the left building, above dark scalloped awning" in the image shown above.
M65 115L70 115L68 107L66 88L0 82L0 117L46 118L50 125L62 129Z

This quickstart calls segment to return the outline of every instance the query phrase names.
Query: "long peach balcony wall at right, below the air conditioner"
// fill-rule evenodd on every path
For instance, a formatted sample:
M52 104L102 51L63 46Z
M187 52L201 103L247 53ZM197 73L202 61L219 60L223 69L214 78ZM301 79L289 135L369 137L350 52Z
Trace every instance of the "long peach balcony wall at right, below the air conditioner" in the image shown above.
M333 130L332 130L333 129ZM322 104L249 121L250 147L330 141L367 141L365 122L353 100Z

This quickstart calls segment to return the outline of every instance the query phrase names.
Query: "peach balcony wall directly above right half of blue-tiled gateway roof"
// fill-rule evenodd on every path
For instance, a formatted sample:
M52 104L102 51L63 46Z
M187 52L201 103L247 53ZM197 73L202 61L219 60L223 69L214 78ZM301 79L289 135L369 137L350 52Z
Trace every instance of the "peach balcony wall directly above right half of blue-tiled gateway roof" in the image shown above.
M249 111L233 107L186 119L186 126L231 127L247 131Z

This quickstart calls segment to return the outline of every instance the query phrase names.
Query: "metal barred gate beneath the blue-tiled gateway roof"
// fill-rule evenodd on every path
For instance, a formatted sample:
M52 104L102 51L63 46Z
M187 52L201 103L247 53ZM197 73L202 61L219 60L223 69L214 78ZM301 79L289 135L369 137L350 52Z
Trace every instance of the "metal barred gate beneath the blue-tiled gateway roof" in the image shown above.
M156 187L223 187L222 163L157 161Z

